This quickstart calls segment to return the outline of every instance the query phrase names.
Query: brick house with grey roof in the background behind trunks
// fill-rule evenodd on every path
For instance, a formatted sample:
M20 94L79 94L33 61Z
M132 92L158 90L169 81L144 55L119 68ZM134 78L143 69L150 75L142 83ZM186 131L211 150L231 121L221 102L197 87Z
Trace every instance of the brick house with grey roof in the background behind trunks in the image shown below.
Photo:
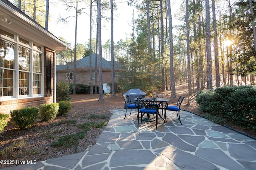
M95 54L92 55L92 79L95 80ZM98 76L99 56L97 58L97 85L99 83ZM73 83L74 62L69 62L66 65L57 65L57 82ZM117 62L114 62L114 73L117 79L122 68ZM104 84L111 83L111 61L106 61L102 58L102 82ZM90 84L90 57L84 57L76 61L76 84Z

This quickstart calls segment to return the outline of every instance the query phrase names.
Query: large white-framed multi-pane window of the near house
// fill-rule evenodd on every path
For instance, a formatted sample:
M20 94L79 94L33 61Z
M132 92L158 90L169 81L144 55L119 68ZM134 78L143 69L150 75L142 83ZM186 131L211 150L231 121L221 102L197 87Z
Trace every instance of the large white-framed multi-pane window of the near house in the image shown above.
M43 48L8 31L0 33L1 100L43 96Z

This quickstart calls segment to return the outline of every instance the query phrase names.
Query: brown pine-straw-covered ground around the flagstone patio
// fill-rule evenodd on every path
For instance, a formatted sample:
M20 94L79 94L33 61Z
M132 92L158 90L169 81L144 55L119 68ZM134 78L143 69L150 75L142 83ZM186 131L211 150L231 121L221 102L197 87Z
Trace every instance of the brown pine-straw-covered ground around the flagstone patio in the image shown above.
M182 109L190 111L192 113L201 114L198 111L198 106L194 102L193 98L186 96L187 92L183 86L179 86L176 89L176 96L184 96L184 102L182 103ZM165 98L170 98L171 92L164 91L158 92L158 94L164 94ZM64 116L56 117L53 121L43 122L38 120L32 127L25 130L20 130L12 123L4 128L4 131L0 133L0 151L5 150L6 147L10 147L7 153L0 154L0 160L36 160L43 161L50 158L56 158L67 154L74 154L77 152L84 152L90 150L90 148L96 143L96 140L100 136L100 133L104 128L91 128L84 135L83 139L79 139L79 144L76 147L67 147L60 149L60 147L51 146L52 142L58 141L58 137L66 134L74 134L81 131L77 126L78 124L85 122L108 122L111 113L110 110L123 108L124 100L121 93L116 93L115 97L111 95L104 95L104 101L98 102L98 95L89 94L76 94L72 97L72 109ZM170 104L175 104L177 98L171 99ZM189 105L188 105L189 104ZM106 115L105 119L90 118L91 114ZM68 120L74 120L75 123L69 123ZM255 132L245 131L239 127L232 127L238 131L242 131L248 135L256 137ZM14 143L18 143L18 146L13 147ZM0 168L5 168L13 165L0 165Z

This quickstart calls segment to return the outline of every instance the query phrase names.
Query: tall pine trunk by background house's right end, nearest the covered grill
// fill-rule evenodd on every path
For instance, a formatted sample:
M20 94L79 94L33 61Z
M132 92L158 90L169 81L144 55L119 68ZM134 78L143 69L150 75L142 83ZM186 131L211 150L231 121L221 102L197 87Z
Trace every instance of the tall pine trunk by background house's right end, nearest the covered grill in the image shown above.
M114 70L114 9L113 9L113 0L110 0L111 4L111 97L116 96L115 93L115 70Z

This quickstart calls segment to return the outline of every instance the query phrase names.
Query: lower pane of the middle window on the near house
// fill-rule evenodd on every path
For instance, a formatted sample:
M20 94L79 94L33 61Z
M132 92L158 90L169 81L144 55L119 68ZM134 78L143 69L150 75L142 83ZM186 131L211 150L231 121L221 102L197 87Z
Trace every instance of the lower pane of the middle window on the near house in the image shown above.
M29 94L29 73L19 72L19 95Z

